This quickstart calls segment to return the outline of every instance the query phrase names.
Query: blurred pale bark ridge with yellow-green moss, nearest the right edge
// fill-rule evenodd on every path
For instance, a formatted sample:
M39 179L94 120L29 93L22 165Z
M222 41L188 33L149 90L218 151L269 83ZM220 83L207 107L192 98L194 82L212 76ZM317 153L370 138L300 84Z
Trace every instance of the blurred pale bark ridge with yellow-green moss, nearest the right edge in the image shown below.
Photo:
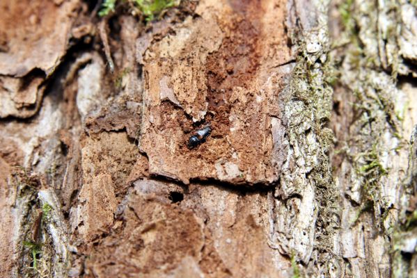
M356 202L361 204L362 210L368 206L367 202L372 202L375 218L383 222L379 211L381 208L388 211L393 203L392 199L387 202L384 198L381 179L388 174L387 140L395 141L400 129L400 119L395 112L395 96L400 92L395 76L402 58L396 33L387 34L400 24L395 15L401 7L393 1L382 2L378 6L372 1L349 2L349 12L343 13L351 43L345 49L340 83L355 97L353 108L357 120L352 124L352 131L357 136L349 142L348 155L356 168L352 177L361 182L361 199ZM381 44L384 44L382 48ZM397 141L393 143L400 144L400 140Z

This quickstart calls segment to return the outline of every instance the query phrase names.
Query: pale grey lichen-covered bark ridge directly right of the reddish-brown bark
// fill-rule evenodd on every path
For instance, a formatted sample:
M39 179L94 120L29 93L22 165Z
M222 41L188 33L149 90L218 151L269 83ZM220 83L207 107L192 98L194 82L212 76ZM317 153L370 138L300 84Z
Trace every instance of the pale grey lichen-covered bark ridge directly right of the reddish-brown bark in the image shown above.
M281 253L291 256L293 265L294 261L308 265L300 270L304 275L329 276L340 264L332 252L340 207L329 163L333 132L326 127L336 76L328 58L328 2L312 5L318 11L314 26L306 23L292 30L298 58L290 84L281 92L290 149L275 193L280 201L274 242Z

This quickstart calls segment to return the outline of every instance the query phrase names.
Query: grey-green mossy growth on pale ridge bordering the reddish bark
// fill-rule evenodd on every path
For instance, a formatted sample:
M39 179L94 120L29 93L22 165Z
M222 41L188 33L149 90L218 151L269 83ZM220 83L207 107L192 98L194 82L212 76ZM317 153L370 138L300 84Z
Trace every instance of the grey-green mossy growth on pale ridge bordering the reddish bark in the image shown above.
M317 35L317 36L316 36ZM292 71L288 97L285 95L285 116L288 117L288 139L290 145L296 146L304 158L303 167L290 172L288 180L297 180L297 175L306 177L302 183L293 183L294 190L302 190L306 184L315 188L317 204L316 236L314 249L320 264L329 265L329 260L338 260L332 255L333 235L338 232L340 223L340 193L333 181L329 163L329 149L333 145L333 131L327 127L333 107L332 85L338 79L334 60L328 55L329 46L325 33L314 34L322 49L314 54L306 51L309 34L293 38L294 44L300 45L297 63ZM297 42L297 40L301 40ZM285 91L286 93L286 91ZM301 173L308 169L308 174ZM285 177L286 178L286 177ZM300 277L301 267L291 255L293 277ZM301 273L302 274L302 273Z

